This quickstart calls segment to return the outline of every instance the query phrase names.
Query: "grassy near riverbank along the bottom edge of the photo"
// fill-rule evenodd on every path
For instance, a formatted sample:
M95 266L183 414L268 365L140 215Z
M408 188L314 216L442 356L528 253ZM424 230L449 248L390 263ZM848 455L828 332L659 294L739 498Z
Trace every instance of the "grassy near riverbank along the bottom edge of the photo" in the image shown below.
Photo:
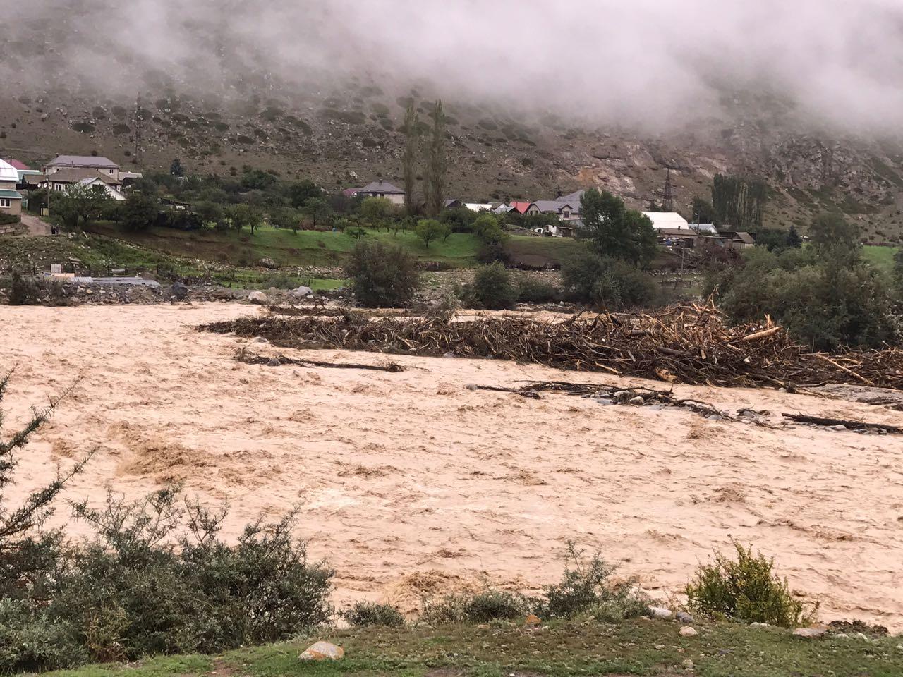
M368 628L311 636L293 642L241 649L213 658L153 658L128 666L88 666L51 673L67 677L178 675L677 675L693 661L702 677L797 677L801 675L903 674L903 639L861 640L794 637L787 630L735 624L696 624L700 635L684 638L679 626L636 620L617 626L557 622L523 626L440 626L392 630ZM317 639L345 648L337 663L305 663L297 656ZM661 648L656 648L660 646Z

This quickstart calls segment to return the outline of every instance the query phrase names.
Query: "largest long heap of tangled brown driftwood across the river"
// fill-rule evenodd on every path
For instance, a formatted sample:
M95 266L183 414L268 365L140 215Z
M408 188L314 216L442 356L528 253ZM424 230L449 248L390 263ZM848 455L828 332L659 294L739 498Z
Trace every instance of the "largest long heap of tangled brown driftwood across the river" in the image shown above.
M248 317L201 329L260 336L283 348L494 357L668 383L790 391L836 383L903 389L903 351L813 353L770 322L732 327L712 306L559 322L517 316L368 318L346 311L331 318Z

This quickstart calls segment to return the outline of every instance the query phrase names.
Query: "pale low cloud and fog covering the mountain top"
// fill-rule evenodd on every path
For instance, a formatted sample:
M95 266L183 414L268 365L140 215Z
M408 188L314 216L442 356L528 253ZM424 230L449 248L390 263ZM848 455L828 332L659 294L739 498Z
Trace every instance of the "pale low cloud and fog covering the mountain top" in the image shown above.
M203 88L243 76L331 83L356 75L402 89L429 80L452 101L665 125L707 115L722 83L753 92L765 83L807 115L847 128L894 131L903 118L903 0L9 5L5 41L53 32L47 46L56 59L38 79L17 64L16 79L39 85L87 79L134 92L136 70ZM24 63L33 70L42 61Z

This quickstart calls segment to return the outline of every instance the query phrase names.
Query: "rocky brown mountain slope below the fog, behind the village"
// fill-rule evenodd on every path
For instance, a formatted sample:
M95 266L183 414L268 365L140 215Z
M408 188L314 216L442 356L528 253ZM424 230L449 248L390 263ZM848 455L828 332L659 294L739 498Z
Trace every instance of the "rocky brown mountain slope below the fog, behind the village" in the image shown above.
M3 156L40 163L96 152L135 162L134 99L65 88L12 94L0 100ZM166 168L179 157L190 171L219 173L253 165L336 189L400 181L405 107L414 100L425 121L429 94L398 97L359 82L331 92L250 87L229 98L145 87L143 164ZM671 170L676 209L690 217L692 199L708 195L715 173L737 172L771 186L768 225L805 227L814 213L841 209L872 241L903 233L900 144L807 128L776 98L726 96L719 115L667 134L589 129L454 100L446 112L453 196L550 199L596 185L645 207L661 199Z

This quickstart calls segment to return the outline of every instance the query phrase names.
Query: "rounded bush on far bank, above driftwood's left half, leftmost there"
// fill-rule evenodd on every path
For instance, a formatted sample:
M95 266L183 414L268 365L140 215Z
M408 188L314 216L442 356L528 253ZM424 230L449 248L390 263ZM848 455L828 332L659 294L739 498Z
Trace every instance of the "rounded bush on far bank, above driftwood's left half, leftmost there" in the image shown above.
M404 308L420 289L414 257L398 246L358 242L351 251L345 274L358 304L365 308Z

